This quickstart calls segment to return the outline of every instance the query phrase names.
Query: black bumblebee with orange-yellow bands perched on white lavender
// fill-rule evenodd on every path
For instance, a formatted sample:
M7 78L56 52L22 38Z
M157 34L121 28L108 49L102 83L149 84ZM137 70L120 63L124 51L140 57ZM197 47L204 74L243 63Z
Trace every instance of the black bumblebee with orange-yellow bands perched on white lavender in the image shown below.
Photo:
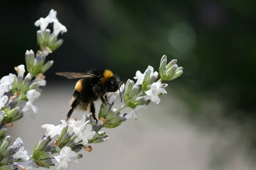
M90 112L97 122L98 118L95 114L95 106L93 102L100 98L104 105L106 105L108 99L107 96L105 96L104 99L104 95L108 92L115 92L118 89L120 91L120 79L110 70L90 70L87 73L58 72L55 74L67 77L68 79L81 78L76 82L73 97L70 101L71 109L68 111L67 119L65 121L70 118L76 108L81 111L87 111L90 107Z

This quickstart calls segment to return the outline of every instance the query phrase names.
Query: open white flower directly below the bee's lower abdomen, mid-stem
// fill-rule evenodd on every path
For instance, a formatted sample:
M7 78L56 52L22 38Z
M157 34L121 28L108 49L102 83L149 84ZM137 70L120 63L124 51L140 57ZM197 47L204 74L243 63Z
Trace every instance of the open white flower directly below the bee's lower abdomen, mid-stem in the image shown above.
M88 144L88 140L93 139L93 136L96 134L96 132L92 130L92 125L87 124L84 130L82 130L78 137L75 139L76 142L83 140L84 145Z

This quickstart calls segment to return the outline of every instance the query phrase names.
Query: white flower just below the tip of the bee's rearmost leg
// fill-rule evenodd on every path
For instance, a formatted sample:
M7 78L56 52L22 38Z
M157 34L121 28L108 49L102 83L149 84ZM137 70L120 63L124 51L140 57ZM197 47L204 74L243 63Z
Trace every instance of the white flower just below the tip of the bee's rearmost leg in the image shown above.
M56 135L60 135L63 127L67 125L66 121L61 120L61 122L62 122L61 125L57 125L57 126L52 124L42 125L41 127L46 129L45 136L50 136L51 138L53 138Z

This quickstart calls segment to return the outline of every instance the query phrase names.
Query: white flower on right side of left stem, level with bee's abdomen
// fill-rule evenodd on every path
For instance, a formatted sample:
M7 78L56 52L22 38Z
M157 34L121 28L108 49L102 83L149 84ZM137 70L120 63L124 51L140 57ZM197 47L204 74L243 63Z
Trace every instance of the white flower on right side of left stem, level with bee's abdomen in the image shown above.
M32 109L32 111L34 111L34 113L38 112L38 108L35 105L33 105L33 102L35 100L37 100L40 95L41 95L41 93L39 93L38 91L36 91L34 89L28 91L26 93L26 97L27 97L27 99L29 99L29 101L26 102L26 106L24 108L22 108L23 112L26 112L29 109Z

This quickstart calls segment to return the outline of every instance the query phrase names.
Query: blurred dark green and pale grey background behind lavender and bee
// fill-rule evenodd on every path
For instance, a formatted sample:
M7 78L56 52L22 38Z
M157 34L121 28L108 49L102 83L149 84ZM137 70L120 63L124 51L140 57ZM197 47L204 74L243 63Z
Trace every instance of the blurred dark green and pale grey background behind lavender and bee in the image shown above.
M54 65L35 102L39 113L8 130L29 153L44 134L41 125L57 125L69 110L76 80L55 72L108 68L125 82L148 65L157 70L165 54L184 67L168 82L168 95L139 111L137 121L106 130L111 138L93 144L70 169L255 169L254 0L42 0L0 8L0 77L25 64L26 50L37 51L34 23L50 9L68 30L59 36L64 44L47 57Z

